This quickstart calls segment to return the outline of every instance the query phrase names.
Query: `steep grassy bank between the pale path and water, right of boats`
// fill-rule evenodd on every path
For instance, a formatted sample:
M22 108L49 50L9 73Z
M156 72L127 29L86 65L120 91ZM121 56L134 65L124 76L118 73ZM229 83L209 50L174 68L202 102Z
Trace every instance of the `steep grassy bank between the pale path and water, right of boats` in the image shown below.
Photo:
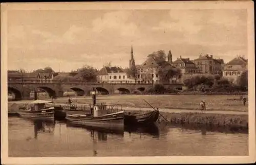
M138 113L135 111L126 112ZM222 130L225 131L248 133L248 115L163 112L160 114L157 121L157 123L160 124L184 125L187 127L189 127L189 125L197 125L218 130L222 128Z

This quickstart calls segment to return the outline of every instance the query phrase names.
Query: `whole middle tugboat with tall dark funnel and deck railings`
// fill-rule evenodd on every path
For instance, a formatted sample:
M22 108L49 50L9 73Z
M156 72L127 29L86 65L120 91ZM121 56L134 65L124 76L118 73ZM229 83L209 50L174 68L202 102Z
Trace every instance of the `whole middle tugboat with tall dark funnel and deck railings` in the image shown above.
M123 127L122 108L119 109L118 104L97 104L96 90L92 91L93 104L90 113L71 113L66 115L66 120L73 124L80 124L93 127L103 127L107 129L115 129ZM113 108L116 107L116 108Z

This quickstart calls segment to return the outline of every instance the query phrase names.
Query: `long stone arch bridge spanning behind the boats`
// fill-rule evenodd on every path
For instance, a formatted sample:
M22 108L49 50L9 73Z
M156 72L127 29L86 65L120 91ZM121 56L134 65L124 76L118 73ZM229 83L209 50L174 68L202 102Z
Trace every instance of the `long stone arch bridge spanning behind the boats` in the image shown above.
M151 88L152 84L98 84L82 82L8 82L8 93L14 93L16 100L30 98L30 92L37 89L46 91L50 97L61 97L67 90L73 90L78 96L90 95L93 88L102 94L114 94L119 90L123 94L132 94L135 91L143 92ZM182 84L164 84L165 88L181 89Z

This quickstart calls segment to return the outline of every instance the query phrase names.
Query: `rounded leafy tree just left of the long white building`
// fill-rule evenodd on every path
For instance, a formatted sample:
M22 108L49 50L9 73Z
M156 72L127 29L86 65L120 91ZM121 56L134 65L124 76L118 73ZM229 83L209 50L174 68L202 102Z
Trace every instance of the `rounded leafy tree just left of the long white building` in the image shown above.
M77 69L77 74L74 77L86 82L96 82L96 76L97 72L93 67L84 65L82 68Z

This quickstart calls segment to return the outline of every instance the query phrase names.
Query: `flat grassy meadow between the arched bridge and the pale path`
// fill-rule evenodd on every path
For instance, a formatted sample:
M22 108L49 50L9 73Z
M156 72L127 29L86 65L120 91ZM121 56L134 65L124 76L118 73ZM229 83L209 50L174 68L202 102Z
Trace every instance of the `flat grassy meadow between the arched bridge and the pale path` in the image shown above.
M149 107L143 101L145 99L150 104L159 108L175 109L200 109L200 101L205 100L207 111L242 111L248 112L248 104L243 105L239 100L239 95L111 95L97 96L98 102L118 103L129 107ZM67 98L58 98L56 103L65 103ZM73 98L75 103L92 103L92 98L77 97Z

